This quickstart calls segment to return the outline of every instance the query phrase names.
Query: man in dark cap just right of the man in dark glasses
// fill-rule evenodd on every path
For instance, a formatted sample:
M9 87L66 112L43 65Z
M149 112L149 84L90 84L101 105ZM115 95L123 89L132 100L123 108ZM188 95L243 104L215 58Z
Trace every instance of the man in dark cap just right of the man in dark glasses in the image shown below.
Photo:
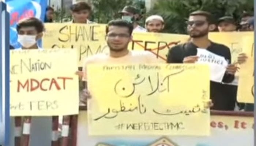
M218 30L220 32L232 32L237 30L236 22L231 16L224 16L218 21Z

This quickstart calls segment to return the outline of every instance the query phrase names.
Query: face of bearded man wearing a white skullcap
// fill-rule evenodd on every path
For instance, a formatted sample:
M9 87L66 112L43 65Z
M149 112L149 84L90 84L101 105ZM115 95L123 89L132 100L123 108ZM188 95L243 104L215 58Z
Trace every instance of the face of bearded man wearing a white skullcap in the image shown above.
M161 32L165 27L162 16L151 15L146 19L145 27L147 32Z

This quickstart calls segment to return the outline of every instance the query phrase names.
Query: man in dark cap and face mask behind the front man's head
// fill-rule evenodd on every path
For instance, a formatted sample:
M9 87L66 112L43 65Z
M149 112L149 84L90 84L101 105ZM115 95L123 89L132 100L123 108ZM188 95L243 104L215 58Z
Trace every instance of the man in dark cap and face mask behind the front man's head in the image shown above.
M119 14L122 15L122 19L130 23L133 23L133 32L146 32L147 30L137 23L140 20L140 12L138 9L132 6L125 6Z

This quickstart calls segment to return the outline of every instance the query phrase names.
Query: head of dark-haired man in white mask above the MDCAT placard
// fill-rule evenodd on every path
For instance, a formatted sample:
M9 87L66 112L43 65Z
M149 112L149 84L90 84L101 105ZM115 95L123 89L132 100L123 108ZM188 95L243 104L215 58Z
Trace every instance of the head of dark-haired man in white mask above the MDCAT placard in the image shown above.
M17 24L19 49L39 49L37 42L43 36L44 24L37 18L26 18Z

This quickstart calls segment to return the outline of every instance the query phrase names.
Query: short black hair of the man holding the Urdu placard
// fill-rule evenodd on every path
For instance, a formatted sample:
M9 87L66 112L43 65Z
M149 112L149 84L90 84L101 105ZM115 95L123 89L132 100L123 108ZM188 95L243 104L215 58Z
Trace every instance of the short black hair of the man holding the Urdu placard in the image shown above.
M116 19L116 20L112 20L108 23L108 26L106 28L106 34L108 34L109 31L109 27L110 26L118 26L118 27L126 27L129 29L129 34L132 35L132 31L133 31L133 24L127 22L126 20L122 20L122 19Z

